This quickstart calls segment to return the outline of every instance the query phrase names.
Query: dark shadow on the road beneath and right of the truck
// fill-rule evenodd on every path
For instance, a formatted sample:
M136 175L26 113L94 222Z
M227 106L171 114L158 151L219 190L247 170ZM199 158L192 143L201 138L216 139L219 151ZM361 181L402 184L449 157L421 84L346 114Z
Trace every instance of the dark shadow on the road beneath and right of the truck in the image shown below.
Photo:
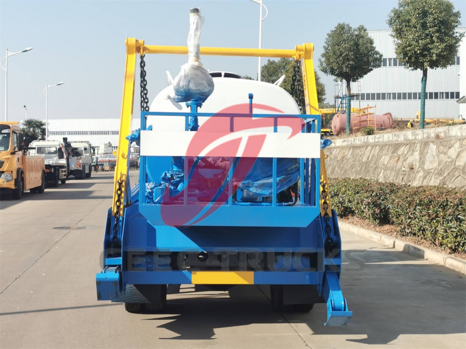
M338 334L361 344L388 344L401 334L465 332L463 275L394 249L350 250L343 259L342 290L353 311L346 327L324 326L325 304L310 313L274 312L265 285L235 286L222 293L194 292L202 289L193 285L169 296L172 315L147 315L144 320L165 321L154 325L154 335L157 327L175 333L161 339L213 339L216 328L264 323L304 323L314 335Z

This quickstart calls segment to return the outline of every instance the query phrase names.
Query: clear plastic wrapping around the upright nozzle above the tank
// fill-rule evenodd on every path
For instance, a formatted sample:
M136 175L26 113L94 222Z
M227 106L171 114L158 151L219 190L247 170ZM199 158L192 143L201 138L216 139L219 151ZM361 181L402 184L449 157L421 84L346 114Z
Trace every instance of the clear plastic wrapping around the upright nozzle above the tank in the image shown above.
M177 102L196 101L203 103L213 92L214 83L209 72L200 62L200 36L204 18L199 9L190 10L188 34L188 63L181 66L173 80Z

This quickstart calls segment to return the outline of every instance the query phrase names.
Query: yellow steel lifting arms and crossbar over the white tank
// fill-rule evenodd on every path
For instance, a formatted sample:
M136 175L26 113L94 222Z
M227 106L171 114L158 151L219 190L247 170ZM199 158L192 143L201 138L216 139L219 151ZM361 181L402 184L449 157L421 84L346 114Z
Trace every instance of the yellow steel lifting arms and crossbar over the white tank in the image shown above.
M124 198L129 193L126 192L126 181L128 173L129 143L126 140L131 132L131 118L134 104L134 83L136 55L142 54L179 54L187 55L186 46L145 46L144 40L136 38L126 39L126 65L123 85L123 102L121 105L120 133L118 140L118 153L115 167L114 190L112 215L123 215ZM313 44L297 45L294 50L274 50L274 49L247 49L247 48L226 48L226 47L201 47L200 54L206 56L241 56L241 57L272 57L272 58L293 58L301 60L302 78L304 85L304 98L306 114L320 114L317 100L316 77L314 75ZM149 86L150 88L150 86ZM324 159L321 157L321 164ZM325 169L322 164L321 168ZM322 171L321 171L322 175ZM327 173L324 174L327 178ZM118 187L121 190L118 190ZM143 188L139 189L143 190ZM119 201L119 214L117 213L116 202Z

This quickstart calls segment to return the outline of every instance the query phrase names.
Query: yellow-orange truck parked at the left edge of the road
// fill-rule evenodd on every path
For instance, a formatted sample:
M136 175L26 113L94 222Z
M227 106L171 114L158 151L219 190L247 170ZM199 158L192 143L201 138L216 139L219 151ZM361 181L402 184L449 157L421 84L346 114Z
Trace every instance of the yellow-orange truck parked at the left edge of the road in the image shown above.
M24 154L24 135L18 122L0 122L0 190L13 191L15 199L21 199L24 190L45 190L45 160Z

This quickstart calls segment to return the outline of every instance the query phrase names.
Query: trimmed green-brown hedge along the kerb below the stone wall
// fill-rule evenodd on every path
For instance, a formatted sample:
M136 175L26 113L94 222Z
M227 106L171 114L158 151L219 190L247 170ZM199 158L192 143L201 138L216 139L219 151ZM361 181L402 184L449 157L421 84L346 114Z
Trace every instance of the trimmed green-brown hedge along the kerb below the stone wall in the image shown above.
M395 224L448 250L466 251L466 192L438 186L408 187L363 178L331 179L332 207L375 224Z

